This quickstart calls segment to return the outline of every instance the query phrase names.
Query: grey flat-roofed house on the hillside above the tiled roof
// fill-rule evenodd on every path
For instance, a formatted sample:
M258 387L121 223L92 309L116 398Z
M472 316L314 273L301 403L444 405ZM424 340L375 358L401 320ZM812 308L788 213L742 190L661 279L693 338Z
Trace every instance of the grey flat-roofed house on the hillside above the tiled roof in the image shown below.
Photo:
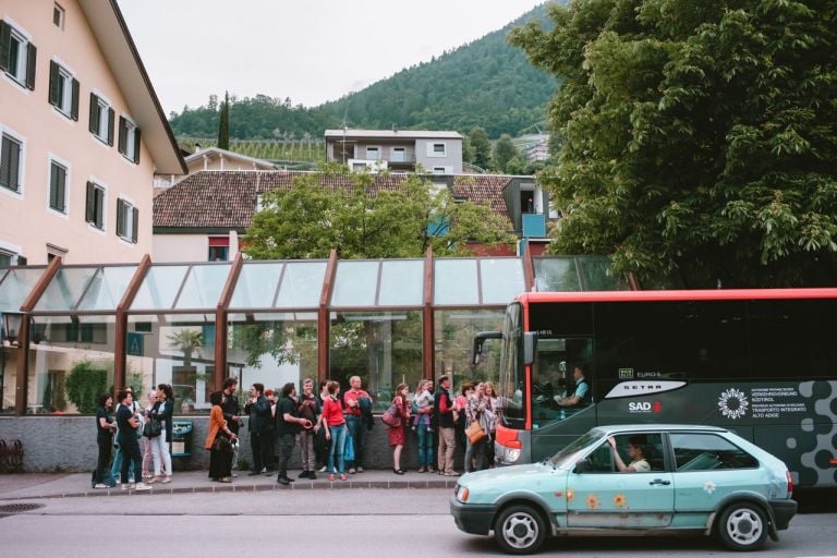
M462 135L424 130L326 130L326 160L352 170L462 172Z

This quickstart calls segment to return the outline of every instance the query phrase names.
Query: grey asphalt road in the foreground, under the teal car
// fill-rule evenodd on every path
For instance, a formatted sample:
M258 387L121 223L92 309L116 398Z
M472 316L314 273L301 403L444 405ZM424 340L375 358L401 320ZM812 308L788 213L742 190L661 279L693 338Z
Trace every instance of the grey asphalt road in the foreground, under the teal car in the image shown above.
M97 550L154 558L501 555L490 538L457 530L448 513L449 496L450 490L436 489L352 489L32 500L45 506L0 517L0 555L88 558ZM837 556L835 525L834 512L800 514L781 533L781 541L768 542L759 556ZM544 555L556 554L741 557L712 538L695 537L549 541Z

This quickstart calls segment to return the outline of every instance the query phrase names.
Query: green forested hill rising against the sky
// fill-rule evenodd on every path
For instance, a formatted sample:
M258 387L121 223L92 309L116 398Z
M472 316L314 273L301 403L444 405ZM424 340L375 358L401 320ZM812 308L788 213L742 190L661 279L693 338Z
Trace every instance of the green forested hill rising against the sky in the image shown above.
M236 99L230 109L230 137L322 138L326 129L341 128L343 121L355 129L396 125L463 133L480 125L492 137L519 135L533 124L543 129L556 81L534 69L522 50L506 44L509 29L531 19L546 20L546 8L535 8L502 29L319 107L294 107L267 95ZM179 137L214 137L218 108L184 109L172 116L171 128Z

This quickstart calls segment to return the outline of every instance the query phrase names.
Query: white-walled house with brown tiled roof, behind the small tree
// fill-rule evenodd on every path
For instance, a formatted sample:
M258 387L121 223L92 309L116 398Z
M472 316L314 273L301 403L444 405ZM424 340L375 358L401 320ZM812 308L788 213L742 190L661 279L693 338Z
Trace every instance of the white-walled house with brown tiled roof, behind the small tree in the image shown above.
M262 195L277 189L291 189L295 177L307 173L199 171L187 177L154 201L151 259L157 263L233 259L239 252L240 239L260 206ZM376 192L395 190L407 178L405 173L375 174L372 189ZM509 230L521 238L521 245L525 242L533 254L543 253L548 243L548 197L537 189L533 177L440 174L432 179L435 187L447 187L454 199L487 204L495 214L508 219ZM348 175L324 180L329 180L335 187L351 183ZM537 205L534 199L538 199ZM530 222L530 219L536 222ZM515 253L480 247L476 252L483 255Z

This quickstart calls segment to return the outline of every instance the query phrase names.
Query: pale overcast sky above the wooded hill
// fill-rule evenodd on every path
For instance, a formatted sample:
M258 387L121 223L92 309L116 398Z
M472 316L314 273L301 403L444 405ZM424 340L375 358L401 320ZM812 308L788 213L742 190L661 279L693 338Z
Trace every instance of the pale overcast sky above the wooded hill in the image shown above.
M313 107L477 39L544 0L118 1L168 114L226 89Z

